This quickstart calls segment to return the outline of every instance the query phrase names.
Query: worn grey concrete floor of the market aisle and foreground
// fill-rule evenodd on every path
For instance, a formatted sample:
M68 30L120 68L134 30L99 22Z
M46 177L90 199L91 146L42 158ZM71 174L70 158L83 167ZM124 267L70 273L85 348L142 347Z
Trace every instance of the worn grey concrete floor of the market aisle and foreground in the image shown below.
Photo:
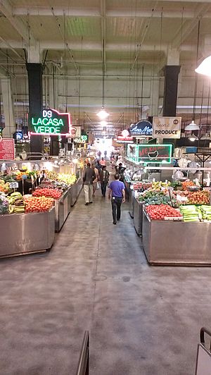
M148 266L128 208L81 194L51 252L1 260L1 375L75 375L86 329L91 375L194 374L211 269Z

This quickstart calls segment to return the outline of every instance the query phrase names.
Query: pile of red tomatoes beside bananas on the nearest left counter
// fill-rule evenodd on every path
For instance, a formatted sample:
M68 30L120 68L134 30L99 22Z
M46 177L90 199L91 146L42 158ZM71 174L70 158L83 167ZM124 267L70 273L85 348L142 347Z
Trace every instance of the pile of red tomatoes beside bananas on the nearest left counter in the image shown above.
M25 213L46 212L53 207L53 198L30 197L25 199Z

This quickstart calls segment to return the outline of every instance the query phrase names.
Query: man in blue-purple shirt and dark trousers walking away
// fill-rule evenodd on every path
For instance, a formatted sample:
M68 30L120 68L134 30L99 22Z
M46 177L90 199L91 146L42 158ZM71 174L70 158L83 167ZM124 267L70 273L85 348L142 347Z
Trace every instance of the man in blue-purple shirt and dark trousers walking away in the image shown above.
M121 204L125 202L125 187L124 183L120 181L120 175L115 174L115 180L108 186L108 198L111 195L111 206L113 214L113 224L120 220Z

